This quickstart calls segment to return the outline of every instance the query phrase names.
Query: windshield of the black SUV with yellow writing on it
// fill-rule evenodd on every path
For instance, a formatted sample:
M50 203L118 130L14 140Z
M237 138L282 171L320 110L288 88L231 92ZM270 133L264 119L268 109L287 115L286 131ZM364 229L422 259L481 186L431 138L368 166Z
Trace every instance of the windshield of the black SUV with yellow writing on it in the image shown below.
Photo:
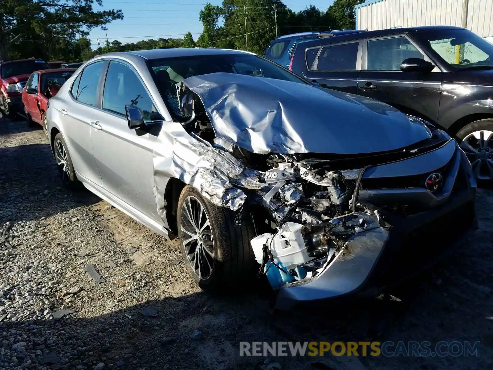
M428 42L447 63L459 70L493 69L493 45L469 30L438 30Z

